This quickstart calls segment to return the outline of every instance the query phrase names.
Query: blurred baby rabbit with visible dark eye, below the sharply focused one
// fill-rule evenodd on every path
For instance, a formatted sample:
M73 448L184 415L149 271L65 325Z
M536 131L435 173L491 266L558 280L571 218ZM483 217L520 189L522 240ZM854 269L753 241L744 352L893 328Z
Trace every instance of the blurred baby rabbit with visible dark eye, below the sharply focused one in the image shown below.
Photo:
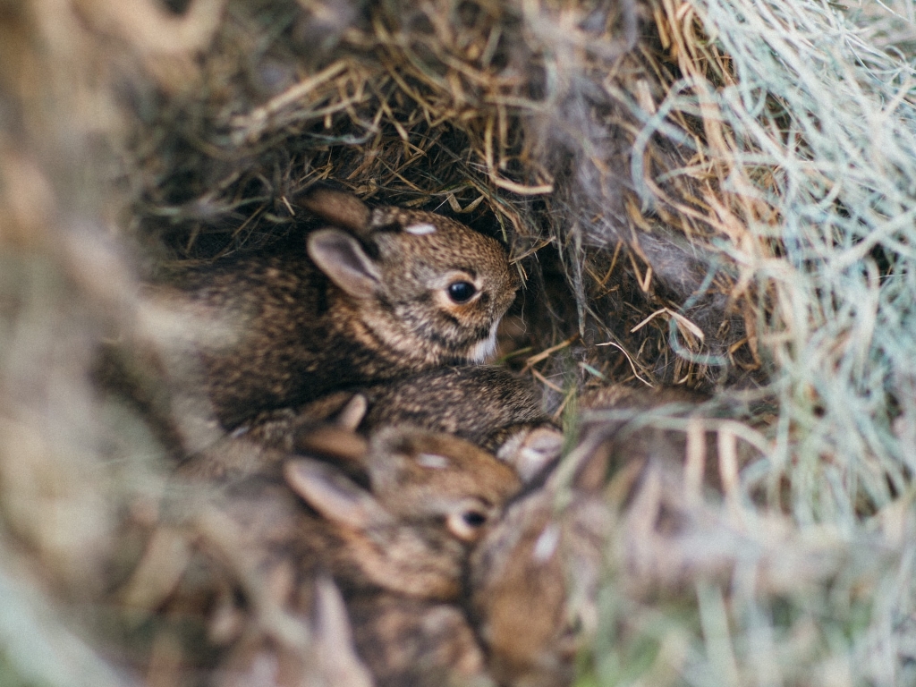
M216 493L206 510L233 523L229 529L244 538L239 551L295 560L309 574L325 568L345 592L456 598L474 542L518 491L518 476L445 434L387 428L365 442L330 430L315 452L325 460L291 459L221 483L207 475ZM347 436L351 441L342 441ZM190 467L180 474L196 473ZM191 493L199 484L183 481ZM180 507L167 504L166 512L183 519Z

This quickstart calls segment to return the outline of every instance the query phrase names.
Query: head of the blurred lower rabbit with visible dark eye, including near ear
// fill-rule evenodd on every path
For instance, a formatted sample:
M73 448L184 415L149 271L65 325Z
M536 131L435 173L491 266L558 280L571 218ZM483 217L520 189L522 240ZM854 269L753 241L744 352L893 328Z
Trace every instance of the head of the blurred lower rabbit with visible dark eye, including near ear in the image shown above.
M471 547L518 490L515 472L474 444L411 428L369 443L370 489L328 463L284 467L290 487L322 518L339 570L400 594L460 594Z

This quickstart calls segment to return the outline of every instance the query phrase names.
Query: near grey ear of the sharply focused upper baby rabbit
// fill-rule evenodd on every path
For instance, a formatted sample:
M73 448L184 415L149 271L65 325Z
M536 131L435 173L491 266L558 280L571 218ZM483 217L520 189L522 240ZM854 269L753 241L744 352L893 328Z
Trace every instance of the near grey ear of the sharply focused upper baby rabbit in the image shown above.
M309 234L309 257L335 285L356 299L375 295L382 275L359 242L339 229Z

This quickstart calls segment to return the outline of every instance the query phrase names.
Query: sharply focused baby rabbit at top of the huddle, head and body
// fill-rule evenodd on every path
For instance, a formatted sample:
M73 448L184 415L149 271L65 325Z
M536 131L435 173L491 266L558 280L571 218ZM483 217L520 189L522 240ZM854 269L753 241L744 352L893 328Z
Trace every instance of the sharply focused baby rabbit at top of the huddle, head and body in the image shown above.
M496 240L438 214L370 210L341 191L315 189L299 202L330 225L301 251L229 256L152 289L190 322L170 345L180 359L173 376L198 368L224 427L333 388L493 353L520 283Z

